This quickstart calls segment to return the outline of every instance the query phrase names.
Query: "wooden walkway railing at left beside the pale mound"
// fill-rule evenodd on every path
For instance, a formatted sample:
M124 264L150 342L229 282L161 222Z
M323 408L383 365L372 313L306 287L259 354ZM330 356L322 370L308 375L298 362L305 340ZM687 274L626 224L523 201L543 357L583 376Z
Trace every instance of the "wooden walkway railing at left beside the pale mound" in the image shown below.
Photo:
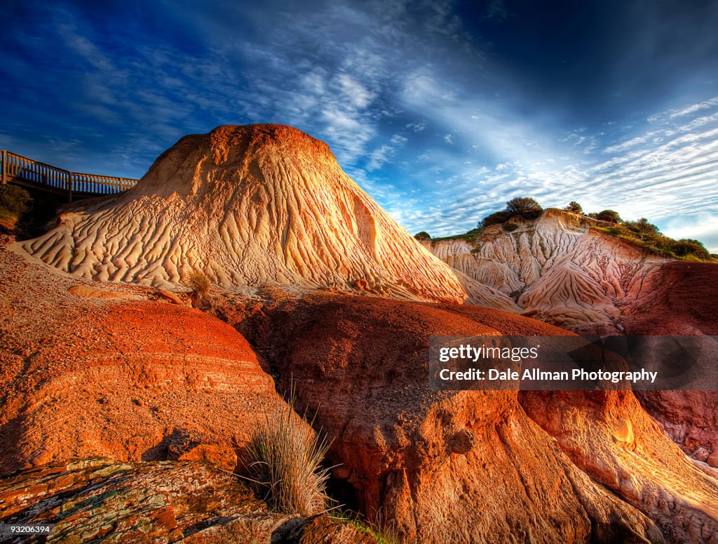
M2 151L0 162L2 162L3 185L17 183L51 193L64 193L68 195L70 202L73 200L73 195L78 198L112 195L131 189L137 184L137 180L130 178L62 170L6 150Z

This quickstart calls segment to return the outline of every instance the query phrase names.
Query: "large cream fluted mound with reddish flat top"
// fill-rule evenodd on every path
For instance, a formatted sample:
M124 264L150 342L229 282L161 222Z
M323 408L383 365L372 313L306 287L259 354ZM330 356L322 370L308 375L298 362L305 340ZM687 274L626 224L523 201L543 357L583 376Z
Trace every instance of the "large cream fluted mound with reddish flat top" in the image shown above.
M200 269L223 287L279 283L516 308L421 247L327 144L281 125L184 137L134 189L63 214L23 248L99 281L172 287Z

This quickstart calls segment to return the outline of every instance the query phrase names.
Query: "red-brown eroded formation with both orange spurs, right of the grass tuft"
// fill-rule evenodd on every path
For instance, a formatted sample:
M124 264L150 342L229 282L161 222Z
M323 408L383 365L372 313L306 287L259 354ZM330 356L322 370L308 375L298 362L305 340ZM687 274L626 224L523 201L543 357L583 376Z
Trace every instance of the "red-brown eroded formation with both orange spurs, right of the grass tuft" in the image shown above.
M429 389L429 335L565 331L470 305L318 294L246 315L236 326L334 439L338 476L409 538L712 542L718 482L630 392L528 397L547 435L515 392Z

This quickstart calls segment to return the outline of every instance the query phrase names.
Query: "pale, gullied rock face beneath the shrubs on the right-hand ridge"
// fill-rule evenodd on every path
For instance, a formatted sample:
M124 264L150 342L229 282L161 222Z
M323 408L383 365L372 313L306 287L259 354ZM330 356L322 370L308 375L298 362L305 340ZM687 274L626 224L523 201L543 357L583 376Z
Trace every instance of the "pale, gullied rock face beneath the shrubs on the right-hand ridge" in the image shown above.
M592 227L584 216L549 209L514 218L475 241L426 241L460 272L516 299L524 315L576 332L620 333L624 307L643 295L643 279L669 259Z

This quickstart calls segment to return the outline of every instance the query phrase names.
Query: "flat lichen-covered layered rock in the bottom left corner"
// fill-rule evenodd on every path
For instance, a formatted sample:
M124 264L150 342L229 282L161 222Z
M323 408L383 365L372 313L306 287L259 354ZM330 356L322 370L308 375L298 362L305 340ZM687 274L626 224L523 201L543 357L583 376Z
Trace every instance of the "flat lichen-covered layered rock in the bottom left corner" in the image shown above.
M269 544L290 520L238 476L189 461L91 459L0 479L0 522L53 525L47 543Z

